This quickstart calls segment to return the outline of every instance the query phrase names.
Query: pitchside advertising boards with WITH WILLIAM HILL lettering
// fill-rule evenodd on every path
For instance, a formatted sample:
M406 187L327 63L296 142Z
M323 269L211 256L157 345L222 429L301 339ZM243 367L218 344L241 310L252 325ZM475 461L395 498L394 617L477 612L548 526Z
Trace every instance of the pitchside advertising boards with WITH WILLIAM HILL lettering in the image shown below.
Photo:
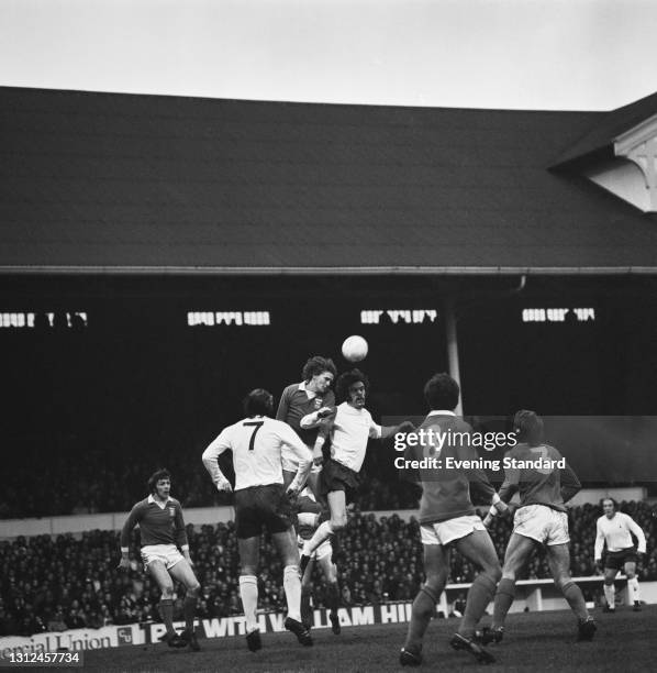
M599 585L602 588L602 577L575 577L582 588L586 585ZM622 588L625 577L619 577L616 589ZM464 595L470 588L470 584L449 584L445 587L437 605L439 616L449 615L448 605L452 604L459 593ZM643 598L646 603L657 603L657 582L644 582L641 584ZM625 588L619 592L621 598L627 603ZM361 627L377 624L402 624L411 619L412 603L388 603L381 605L354 606L338 610L339 621L344 627ZM566 600L557 596L556 587L552 580L521 580L517 582L516 600L511 611L522 611L525 608L531 611L567 609ZM492 606L489 606L489 614ZM285 615L281 613L267 613L258 615L261 632L283 631ZM183 628L183 622L176 624L178 629ZM313 628L330 628L328 611L325 609L314 610ZM37 633L31 638L10 636L0 638L0 660L18 653L40 653L56 651L87 651L105 648L118 648L126 646L146 646L157 643L165 632L162 624L130 624L125 626L107 626L100 629L75 629L70 631ZM214 619L198 619L197 635L200 639L230 638L245 635L245 618L243 615L234 617L222 617Z

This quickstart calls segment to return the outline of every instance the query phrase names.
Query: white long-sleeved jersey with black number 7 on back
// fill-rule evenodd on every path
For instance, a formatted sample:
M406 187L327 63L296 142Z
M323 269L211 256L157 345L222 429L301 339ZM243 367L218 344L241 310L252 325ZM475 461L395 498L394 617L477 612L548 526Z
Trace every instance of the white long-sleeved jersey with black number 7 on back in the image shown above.
M231 449L235 490L282 484L280 454L283 446L289 446L298 457L300 472L312 462L310 449L287 423L267 416L245 418L222 430L203 452L203 464L216 484L222 478L216 459Z

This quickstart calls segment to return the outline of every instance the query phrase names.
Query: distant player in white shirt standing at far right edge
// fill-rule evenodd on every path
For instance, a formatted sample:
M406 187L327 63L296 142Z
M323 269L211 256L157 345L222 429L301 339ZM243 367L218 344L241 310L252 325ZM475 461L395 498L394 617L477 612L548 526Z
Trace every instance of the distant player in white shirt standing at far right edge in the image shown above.
M630 599L634 603L634 610L641 610L641 597L638 591L638 580L636 577L637 554L646 553L646 536L636 521L616 511L616 504L612 498L602 500L602 511L604 515L598 519L595 528L594 559L595 563L602 560L602 548L606 543L606 556L604 559L604 598L606 599L605 613L615 610L615 589L614 578L617 572L623 569L627 575L627 592ZM632 534L636 536L638 547L634 545Z

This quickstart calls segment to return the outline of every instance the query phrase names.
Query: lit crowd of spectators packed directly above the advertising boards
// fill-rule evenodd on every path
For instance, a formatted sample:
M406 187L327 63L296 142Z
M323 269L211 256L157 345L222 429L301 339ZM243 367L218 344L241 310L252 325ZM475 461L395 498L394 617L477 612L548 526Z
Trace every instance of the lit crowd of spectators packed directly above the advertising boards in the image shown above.
M657 519L645 503L624 503L622 509L644 529L648 554L638 565L639 581L657 580ZM574 576L599 574L593 564L598 506L570 509L571 571ZM491 536L503 558L511 529L495 519ZM237 540L232 522L215 527L188 526L196 573L202 591L200 618L242 614L238 593ZM414 518L398 515L377 518L358 510L341 534L337 551L344 606L412 599L423 582L422 545ZM133 531L131 570L120 572L119 533L94 530L82 533L0 542L0 636L30 636L45 630L99 628L158 619L157 586L144 573L138 558L138 530ZM450 583L470 582L475 569L458 553L452 554ZM544 553L535 554L523 577L549 577ZM314 605L325 605L321 574L314 577ZM182 591L180 587L179 591ZM176 618L182 618L182 598ZM282 567L271 541L263 537L259 606L283 610Z

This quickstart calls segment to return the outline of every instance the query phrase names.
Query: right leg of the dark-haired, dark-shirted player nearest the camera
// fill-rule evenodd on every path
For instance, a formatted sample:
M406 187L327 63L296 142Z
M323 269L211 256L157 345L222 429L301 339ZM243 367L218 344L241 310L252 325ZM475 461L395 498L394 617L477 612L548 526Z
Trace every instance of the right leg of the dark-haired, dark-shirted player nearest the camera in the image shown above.
M495 595L502 569L494 544L486 530L475 530L469 536L460 538L456 542L456 549L481 569L468 591L466 610L457 631L466 638L471 638L477 624Z

